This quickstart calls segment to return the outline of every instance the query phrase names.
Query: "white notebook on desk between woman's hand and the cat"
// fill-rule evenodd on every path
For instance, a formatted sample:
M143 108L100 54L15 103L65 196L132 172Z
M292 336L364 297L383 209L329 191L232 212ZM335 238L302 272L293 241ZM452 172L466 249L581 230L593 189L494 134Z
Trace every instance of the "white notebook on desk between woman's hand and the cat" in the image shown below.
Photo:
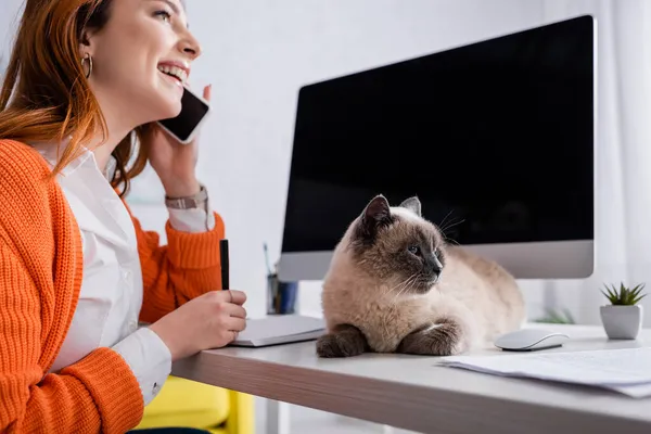
M312 341L326 332L326 322L320 318L301 315L278 315L246 320L246 330L241 332L231 346L261 347Z

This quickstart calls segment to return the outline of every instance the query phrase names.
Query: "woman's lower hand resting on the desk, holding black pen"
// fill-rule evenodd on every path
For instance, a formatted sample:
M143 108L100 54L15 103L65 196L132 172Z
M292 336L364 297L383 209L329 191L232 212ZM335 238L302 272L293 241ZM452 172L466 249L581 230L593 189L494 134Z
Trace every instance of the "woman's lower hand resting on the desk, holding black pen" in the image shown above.
M176 361L234 341L246 328L244 302L246 295L241 291L212 291L167 314L150 329L167 345L171 361Z

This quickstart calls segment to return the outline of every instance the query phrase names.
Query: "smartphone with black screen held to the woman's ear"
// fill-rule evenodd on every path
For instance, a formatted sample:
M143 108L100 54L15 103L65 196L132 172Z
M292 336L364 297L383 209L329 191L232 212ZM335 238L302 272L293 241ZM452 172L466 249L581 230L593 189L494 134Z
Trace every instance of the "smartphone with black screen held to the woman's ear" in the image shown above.
M158 120L158 125L179 142L188 144L194 139L199 127L206 119L209 112L210 105L206 100L190 89L183 88L181 113L176 117Z

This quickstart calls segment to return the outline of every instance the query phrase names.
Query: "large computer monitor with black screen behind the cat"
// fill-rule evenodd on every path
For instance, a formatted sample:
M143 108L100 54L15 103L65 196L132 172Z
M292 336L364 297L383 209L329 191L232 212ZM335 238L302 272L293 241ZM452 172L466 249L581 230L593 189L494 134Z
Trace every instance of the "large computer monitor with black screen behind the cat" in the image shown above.
M595 27L578 16L301 88L279 279L322 280L375 194L417 195L518 279L589 277Z

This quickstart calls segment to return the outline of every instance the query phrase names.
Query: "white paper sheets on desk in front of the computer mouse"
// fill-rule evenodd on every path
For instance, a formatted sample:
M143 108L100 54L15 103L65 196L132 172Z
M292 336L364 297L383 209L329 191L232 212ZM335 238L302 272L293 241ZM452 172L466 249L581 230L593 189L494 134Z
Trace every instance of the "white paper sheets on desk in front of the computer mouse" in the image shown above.
M532 378L651 396L651 348L452 356L442 365L505 376Z

